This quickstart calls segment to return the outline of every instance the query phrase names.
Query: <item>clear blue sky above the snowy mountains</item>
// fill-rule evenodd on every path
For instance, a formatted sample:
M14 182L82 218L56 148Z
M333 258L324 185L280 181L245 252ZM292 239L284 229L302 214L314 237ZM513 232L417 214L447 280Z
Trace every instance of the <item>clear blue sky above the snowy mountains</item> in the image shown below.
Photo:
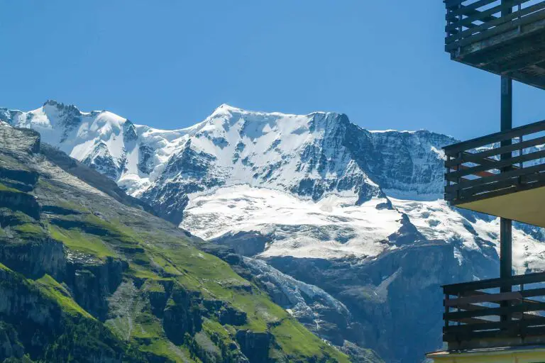
M0 0L0 106L46 99L181 128L222 103L368 129L499 128L499 83L443 51L439 0ZM514 87L516 125L545 91Z

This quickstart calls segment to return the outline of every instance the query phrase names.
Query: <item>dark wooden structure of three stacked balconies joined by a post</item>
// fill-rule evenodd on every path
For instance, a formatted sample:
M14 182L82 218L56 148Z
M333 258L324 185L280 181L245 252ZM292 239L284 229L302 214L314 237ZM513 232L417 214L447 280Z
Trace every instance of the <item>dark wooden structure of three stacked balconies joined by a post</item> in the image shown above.
M511 256L512 220L545 227L545 121L512 128L512 79L545 89L545 0L444 3L451 58L501 76L500 131L444 147L446 201L500 217L500 278L444 286L444 341L545 345L545 272L512 276Z

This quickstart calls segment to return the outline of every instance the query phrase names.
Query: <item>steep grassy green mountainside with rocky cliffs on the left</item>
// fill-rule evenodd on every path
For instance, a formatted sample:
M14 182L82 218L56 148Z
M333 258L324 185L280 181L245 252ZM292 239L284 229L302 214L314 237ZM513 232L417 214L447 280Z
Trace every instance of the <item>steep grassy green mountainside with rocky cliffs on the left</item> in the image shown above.
M0 358L348 362L38 133L0 125L0 166L0 191L21 194L0 206Z

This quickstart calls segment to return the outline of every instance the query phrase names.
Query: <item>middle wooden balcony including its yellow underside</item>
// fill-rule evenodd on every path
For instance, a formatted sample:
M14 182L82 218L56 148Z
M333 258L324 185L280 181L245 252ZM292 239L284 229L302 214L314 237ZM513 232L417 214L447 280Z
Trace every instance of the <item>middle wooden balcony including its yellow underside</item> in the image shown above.
M545 227L545 121L444 147L453 206Z

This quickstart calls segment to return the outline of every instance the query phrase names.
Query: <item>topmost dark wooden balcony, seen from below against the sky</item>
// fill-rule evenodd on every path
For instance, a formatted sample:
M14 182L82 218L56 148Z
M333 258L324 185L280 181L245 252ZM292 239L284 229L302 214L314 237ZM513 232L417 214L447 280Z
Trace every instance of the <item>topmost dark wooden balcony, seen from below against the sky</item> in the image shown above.
M545 89L545 0L444 0L458 62Z

